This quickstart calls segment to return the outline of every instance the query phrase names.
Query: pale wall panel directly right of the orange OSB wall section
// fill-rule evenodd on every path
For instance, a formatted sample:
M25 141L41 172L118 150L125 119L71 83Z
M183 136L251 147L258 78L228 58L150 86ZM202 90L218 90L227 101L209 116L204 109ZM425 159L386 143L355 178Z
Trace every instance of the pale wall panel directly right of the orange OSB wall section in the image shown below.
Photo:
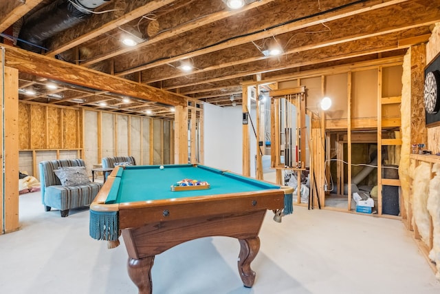
M85 110L84 112L84 160L89 167L101 163L98 158L98 112Z

